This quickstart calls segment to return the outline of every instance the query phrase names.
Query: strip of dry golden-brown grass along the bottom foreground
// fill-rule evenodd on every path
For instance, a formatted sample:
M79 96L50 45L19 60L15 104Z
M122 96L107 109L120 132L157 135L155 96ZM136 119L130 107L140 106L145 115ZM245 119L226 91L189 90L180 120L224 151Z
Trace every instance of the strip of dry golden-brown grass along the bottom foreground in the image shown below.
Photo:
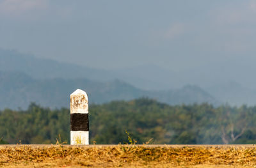
M254 145L2 145L0 167L256 167Z

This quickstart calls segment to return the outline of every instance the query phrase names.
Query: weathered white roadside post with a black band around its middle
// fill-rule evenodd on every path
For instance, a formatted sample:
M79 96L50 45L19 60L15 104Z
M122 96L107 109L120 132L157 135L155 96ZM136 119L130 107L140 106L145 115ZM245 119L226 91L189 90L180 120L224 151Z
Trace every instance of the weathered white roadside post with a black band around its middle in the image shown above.
M70 95L70 144L89 144L88 96L81 89Z

